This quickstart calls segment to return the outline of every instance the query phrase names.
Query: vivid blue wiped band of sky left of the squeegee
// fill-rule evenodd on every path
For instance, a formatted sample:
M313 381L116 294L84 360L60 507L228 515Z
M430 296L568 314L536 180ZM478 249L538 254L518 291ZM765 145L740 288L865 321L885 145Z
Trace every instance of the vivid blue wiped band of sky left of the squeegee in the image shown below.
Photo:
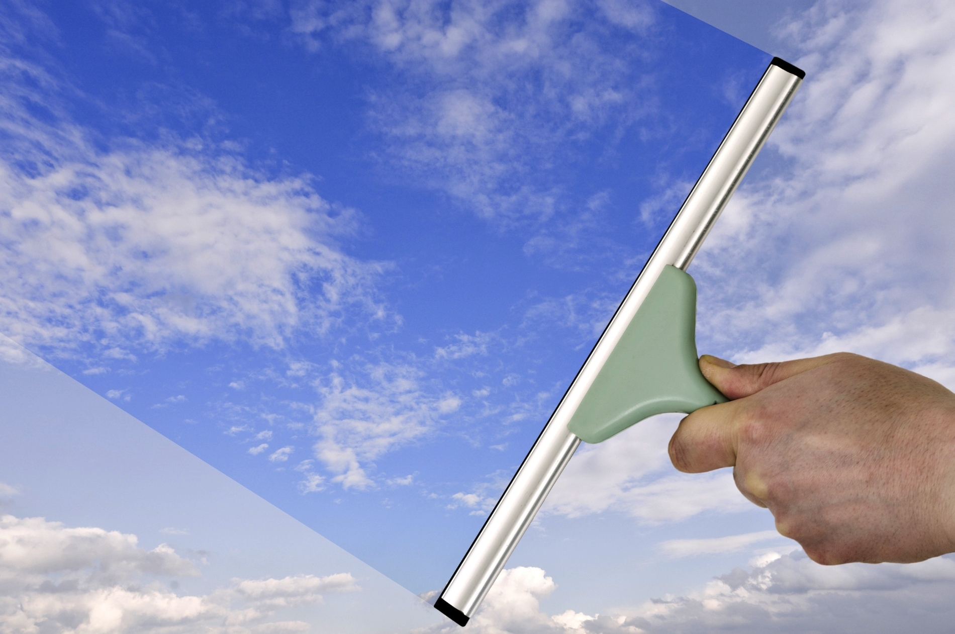
M19 16L14 204L57 217L11 214L11 258L56 244L15 264L14 317L425 592L768 55L665 4L389 11Z

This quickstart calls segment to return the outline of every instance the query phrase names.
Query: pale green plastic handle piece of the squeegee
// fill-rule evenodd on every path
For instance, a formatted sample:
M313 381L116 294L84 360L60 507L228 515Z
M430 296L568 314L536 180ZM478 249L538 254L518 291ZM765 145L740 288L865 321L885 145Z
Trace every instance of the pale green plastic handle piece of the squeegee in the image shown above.
M690 413L726 401L697 361L696 283L668 265L567 427L597 443L658 413Z

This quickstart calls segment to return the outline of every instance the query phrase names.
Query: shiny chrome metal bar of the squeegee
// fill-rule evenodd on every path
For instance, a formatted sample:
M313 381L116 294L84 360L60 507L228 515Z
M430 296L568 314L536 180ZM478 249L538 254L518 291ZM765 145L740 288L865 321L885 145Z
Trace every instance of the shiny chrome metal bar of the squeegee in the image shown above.
M696 181L584 367L504 490L440 598L471 617L550 493L581 440L567 429L584 394L667 264L686 270L753 163L801 80L771 65Z

